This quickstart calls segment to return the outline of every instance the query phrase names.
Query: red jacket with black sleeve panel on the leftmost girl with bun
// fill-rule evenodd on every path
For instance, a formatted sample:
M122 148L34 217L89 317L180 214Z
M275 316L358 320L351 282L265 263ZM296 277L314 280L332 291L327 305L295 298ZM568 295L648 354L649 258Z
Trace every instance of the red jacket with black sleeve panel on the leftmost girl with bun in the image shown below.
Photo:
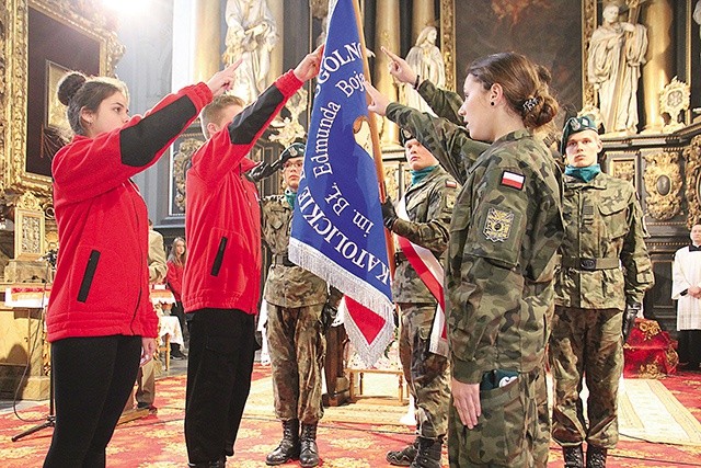
M77 135L54 158L59 253L46 324L69 336L157 335L149 300L148 216L129 178L158 161L211 101L205 83L165 96L143 117L95 138Z

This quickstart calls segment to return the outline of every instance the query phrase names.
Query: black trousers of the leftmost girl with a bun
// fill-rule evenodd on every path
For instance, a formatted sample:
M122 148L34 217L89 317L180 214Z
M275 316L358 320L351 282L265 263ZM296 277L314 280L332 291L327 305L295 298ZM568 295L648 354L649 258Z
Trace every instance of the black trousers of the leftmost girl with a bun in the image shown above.
M134 388L141 336L51 343L56 429L44 468L105 466L105 448Z

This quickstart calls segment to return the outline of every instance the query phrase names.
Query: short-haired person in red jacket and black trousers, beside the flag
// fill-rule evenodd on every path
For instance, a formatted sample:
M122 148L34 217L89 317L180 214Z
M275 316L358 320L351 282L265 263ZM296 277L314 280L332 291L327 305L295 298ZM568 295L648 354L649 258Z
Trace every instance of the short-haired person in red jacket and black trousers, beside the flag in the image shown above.
M229 96L202 113L207 141L187 172L189 258L183 306L192 313L185 442L191 467L226 466L251 388L261 292L261 210L246 155L285 102L319 73L308 54L245 109Z

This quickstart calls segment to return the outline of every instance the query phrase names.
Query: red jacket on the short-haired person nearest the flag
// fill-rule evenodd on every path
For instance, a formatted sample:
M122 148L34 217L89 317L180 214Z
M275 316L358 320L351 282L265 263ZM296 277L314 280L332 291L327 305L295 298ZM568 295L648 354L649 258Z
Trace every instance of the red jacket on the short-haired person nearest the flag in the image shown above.
M214 135L187 171L183 277L186 312L204 308L256 313L261 294L261 208L243 173L257 138L302 82L290 70Z

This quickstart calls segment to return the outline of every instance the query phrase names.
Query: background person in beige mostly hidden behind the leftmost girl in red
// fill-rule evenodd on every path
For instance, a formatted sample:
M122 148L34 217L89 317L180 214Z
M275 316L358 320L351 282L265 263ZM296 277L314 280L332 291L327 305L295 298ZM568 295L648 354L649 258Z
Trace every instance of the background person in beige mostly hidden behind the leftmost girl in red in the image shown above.
M149 219L149 285L163 283L168 273L165 264L165 251L163 250L163 236L153 229L153 221ZM139 367L136 376L136 402L137 408L156 412L156 362L150 361Z

